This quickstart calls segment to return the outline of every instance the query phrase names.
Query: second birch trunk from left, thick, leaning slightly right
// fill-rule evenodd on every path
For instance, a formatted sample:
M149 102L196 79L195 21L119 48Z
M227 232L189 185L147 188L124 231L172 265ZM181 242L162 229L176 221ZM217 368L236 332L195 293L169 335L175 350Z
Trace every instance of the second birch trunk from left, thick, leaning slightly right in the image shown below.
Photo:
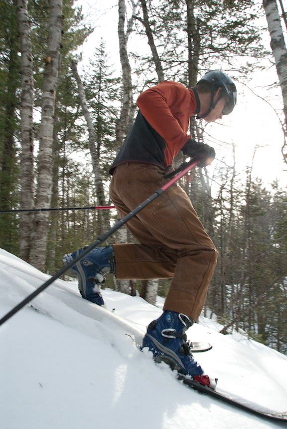
M49 1L47 56L42 94L42 116L39 129L36 209L49 208L52 196L52 145L56 88L61 63L62 0ZM30 263L40 270L45 268L49 229L48 212L38 212L34 218Z

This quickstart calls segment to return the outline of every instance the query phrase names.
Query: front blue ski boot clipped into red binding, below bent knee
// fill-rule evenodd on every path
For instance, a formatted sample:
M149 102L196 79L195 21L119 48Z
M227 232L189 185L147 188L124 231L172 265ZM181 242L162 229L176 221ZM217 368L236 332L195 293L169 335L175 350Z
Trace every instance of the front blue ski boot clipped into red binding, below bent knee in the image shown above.
M208 376L203 375L201 366L193 358L185 331L192 326L193 319L182 313L164 311L153 320L143 337L143 348L153 353L156 362L165 362L181 374L189 375L199 383L209 385Z

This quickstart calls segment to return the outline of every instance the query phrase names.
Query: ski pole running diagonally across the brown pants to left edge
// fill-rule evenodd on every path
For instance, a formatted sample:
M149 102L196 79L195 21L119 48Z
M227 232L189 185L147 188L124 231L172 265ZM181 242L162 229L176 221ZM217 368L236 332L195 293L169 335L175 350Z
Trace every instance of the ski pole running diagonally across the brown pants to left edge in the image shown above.
M140 204L136 209L134 209L132 212L127 214L123 219L121 219L119 222L117 222L111 229L104 232L102 235L100 235L97 240L92 243L90 246L88 246L80 255L75 257L71 262L69 262L67 265L65 265L63 268L60 269L56 274L54 274L49 280L47 280L45 283L43 283L41 286L39 286L34 292L32 292L30 295L28 295L26 298L24 298L19 304L17 304L12 310L10 310L5 316L3 316L0 319L0 325L2 325L6 320L8 320L10 317L12 317L15 313L17 313L21 308L24 307L24 305L28 304L33 298L35 298L37 295L39 295L40 292L42 292L46 287L48 287L51 283L53 283L55 280L57 280L62 274L64 274L66 271L68 271L72 266L74 266L80 259L82 259L86 254L88 254L91 250L93 250L98 244L105 241L110 235L112 235L117 229L119 229L121 226L123 226L128 220L130 220L132 217L134 217L136 214L141 212L149 203L151 203L155 198L159 197L164 191L166 191L171 185L173 185L176 181L178 181L182 176L184 176L189 170L194 168L198 161L190 161L187 163L187 167L180 172L177 176L175 176L173 179L171 179L169 182L167 182L165 185L163 185L161 188L159 188L157 191L154 192L149 198L147 198L142 204Z

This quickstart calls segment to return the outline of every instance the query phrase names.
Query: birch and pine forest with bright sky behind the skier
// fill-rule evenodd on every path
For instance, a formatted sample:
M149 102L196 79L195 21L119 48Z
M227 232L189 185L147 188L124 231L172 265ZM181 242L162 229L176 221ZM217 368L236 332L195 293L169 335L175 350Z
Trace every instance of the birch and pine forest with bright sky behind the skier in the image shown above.
M181 181L219 251L204 311L223 332L244 329L287 353L287 85L266 20L276 8L286 31L279 5L0 0L0 247L59 270L63 254L95 241L117 214L47 209L112 204L108 169L138 95L168 79L192 87L221 69L238 105L218 124L191 118L192 136L216 160ZM183 161L180 153L174 167ZM134 239L121 228L112 242ZM169 279L107 284L155 303Z

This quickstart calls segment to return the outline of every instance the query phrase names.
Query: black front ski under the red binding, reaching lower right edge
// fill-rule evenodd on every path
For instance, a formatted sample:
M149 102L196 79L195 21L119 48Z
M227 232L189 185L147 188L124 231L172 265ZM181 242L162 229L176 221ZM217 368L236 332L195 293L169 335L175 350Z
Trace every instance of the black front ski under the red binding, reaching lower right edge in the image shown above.
M250 405L244 404L244 399L242 399L242 402L241 402L234 398L230 398L227 395L217 392L216 390L210 389L209 387L204 386L203 384L197 383L196 381L192 380L188 376L184 376L182 374L178 374L178 380L182 381L183 384L185 384L186 386L190 387L193 390L196 390L202 394L210 395L213 398L219 399L220 401L224 401L228 404L231 404L235 407L240 408L241 410L244 410L249 413L255 414L257 416L271 419L277 422L287 422L287 413L275 413L272 410L266 409L263 411L257 408L253 408ZM258 408L260 408L260 406L258 406Z

